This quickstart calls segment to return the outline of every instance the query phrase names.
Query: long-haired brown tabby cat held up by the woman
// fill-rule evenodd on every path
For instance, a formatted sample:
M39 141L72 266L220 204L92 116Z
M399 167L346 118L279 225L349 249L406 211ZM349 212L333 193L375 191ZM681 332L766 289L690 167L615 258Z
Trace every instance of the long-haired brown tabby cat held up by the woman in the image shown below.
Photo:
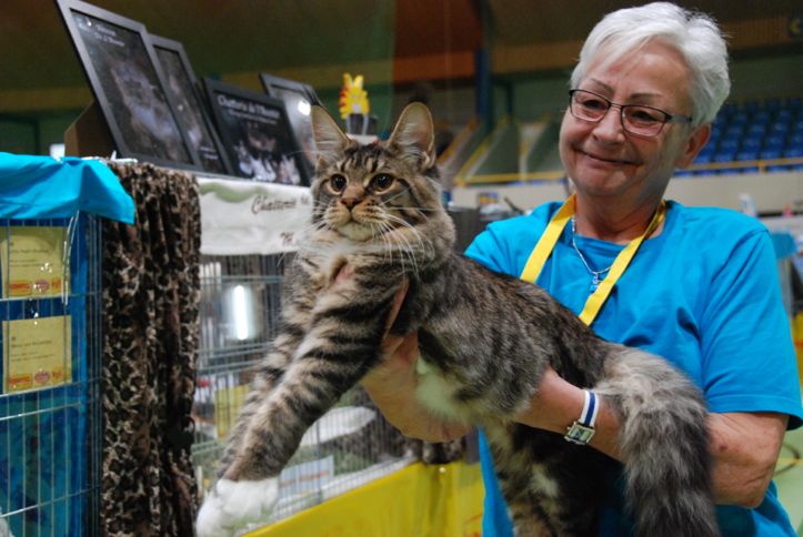
M382 361L390 332L419 332L431 372L421 401L481 426L519 536L590 535L613 460L561 435L519 425L544 367L593 387L623 427L625 499L638 535L719 534L706 409L665 361L605 342L543 290L453 252L429 110L410 104L390 139L359 145L313 110L319 163L312 227L287 278L283 328L260 365L198 519L225 534L271 509L277 476L307 428ZM344 265L353 277L337 278ZM337 281L335 281L337 280Z

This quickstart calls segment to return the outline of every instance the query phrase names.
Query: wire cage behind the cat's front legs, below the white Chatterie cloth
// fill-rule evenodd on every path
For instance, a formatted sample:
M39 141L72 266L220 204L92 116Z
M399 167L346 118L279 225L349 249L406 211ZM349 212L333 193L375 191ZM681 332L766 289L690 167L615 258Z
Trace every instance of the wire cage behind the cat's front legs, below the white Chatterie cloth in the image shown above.
M201 343L192 447L199 489L209 490L225 436L260 361L277 335L291 255L202 256ZM359 387L305 434L280 476L279 503L264 526L405 466L409 443ZM203 493L202 493L203 494Z

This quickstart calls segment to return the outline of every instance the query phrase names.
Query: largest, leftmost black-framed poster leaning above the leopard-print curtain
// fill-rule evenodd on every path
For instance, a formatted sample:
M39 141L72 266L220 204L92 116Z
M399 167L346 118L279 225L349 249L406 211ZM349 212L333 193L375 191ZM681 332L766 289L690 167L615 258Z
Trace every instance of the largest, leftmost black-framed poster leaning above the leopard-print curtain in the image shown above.
M79 0L57 4L120 156L197 170L144 26Z

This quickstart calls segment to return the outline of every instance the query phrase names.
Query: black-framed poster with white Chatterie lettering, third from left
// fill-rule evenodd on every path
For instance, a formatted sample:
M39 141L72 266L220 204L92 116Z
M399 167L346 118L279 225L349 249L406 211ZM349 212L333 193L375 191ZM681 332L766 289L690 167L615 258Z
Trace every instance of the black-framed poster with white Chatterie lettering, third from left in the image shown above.
M212 79L203 79L203 85L234 174L269 183L310 184L281 100Z

